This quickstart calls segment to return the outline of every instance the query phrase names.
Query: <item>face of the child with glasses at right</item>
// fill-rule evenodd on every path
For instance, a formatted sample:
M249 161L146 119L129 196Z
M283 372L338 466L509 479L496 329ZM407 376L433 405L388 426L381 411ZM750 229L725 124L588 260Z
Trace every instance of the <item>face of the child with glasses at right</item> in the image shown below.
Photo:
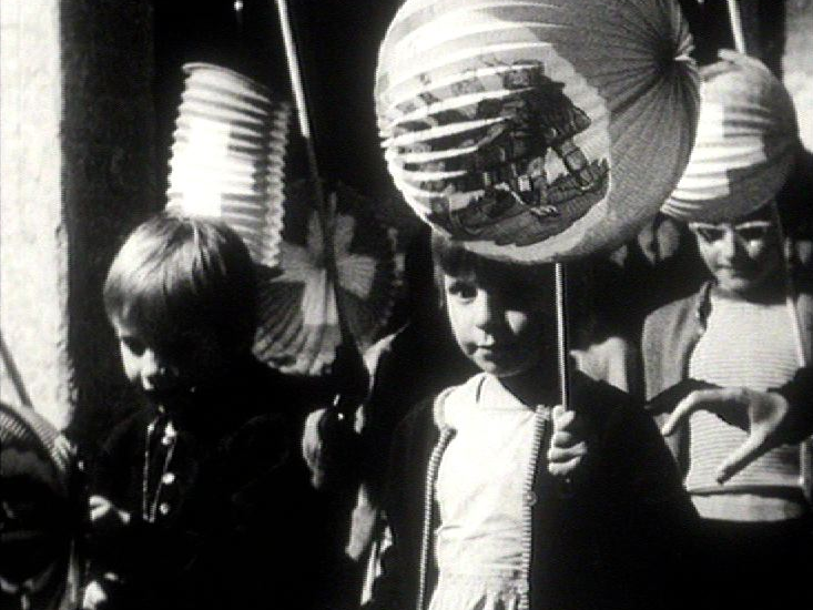
M698 250L717 285L745 296L775 278L782 267L779 232L770 220L692 223Z

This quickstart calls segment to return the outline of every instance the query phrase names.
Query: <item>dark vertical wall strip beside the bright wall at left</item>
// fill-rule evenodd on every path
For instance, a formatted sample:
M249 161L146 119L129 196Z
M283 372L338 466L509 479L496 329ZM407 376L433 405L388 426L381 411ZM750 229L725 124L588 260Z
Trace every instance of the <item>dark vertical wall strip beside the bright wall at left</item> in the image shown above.
M155 179L153 11L149 0L60 3L62 193L69 235L68 342L75 415L100 438L125 387L101 298L130 228L160 205Z

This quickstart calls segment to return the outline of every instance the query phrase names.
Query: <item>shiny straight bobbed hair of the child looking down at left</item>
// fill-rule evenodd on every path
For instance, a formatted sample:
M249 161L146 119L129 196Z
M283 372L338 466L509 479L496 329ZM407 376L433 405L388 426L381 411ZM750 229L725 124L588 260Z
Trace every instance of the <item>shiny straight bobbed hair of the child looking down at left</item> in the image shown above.
M248 350L256 328L256 277L241 237L223 222L162 212L126 238L108 272L108 317L156 343L207 329L219 347Z

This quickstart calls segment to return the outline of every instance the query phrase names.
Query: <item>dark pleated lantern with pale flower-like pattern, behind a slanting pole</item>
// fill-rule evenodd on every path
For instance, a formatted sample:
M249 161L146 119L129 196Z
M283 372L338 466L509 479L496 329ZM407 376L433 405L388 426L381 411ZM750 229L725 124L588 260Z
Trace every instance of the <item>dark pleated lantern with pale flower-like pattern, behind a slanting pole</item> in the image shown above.
M378 338L395 296L394 244L374 215L373 202L338 185L328 195L337 286L325 265L322 225L313 187L286 189L281 275L261 282L255 355L283 373L321 376L331 370L342 343L337 298L360 349Z

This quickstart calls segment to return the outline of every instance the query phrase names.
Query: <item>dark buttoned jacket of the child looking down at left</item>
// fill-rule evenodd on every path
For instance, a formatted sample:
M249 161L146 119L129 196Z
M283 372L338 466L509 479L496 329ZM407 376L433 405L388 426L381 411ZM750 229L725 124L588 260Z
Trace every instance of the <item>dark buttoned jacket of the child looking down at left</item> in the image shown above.
M170 417L154 408L139 409L113 430L91 485L91 494L130 515L124 526L109 516L93 527L92 576L121 578L109 586L111 608L311 606L312 579L304 575L312 573L305 566L318 566L308 539L317 505L296 435L280 413L291 399L278 379L252 364L227 388L201 396L197 415L173 418L171 456L161 441Z

